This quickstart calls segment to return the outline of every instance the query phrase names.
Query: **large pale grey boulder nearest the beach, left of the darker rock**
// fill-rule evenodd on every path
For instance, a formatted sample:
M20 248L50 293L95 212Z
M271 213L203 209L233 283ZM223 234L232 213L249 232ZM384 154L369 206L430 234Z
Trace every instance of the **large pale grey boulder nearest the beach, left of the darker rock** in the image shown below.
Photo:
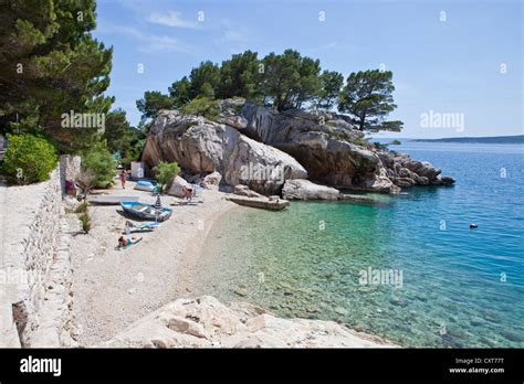
M176 110L156 118L143 160L177 161L190 173L218 171L229 185L245 184L263 193L280 193L287 179L304 179L306 170L290 154L258 142L238 129Z

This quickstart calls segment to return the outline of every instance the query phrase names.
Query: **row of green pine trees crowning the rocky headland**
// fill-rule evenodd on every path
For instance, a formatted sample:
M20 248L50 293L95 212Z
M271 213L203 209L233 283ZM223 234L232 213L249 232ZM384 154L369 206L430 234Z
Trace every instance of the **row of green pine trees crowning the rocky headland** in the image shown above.
M245 51L223 61L220 66L210 61L200 63L189 76L172 83L169 96L146 92L137 102L144 118L154 117L159 104L171 104L184 113L214 115L214 98L242 97L279 110L316 106L332 109L335 105L347 113L359 130L399 131L402 122L386 120L394 104L391 72L365 71L344 76L322 71L321 62L302 56L297 51L271 52L259 58ZM155 95L153 95L155 94ZM148 108L148 103L154 108ZM155 103L154 103L155 102ZM195 104L193 104L195 103Z

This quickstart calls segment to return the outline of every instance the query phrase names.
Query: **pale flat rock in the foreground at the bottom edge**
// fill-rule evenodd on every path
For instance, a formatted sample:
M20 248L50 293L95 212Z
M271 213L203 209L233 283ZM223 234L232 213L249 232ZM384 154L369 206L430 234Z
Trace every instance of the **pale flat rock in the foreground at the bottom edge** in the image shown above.
M333 321L281 319L245 303L178 299L138 320L109 348L394 348Z

